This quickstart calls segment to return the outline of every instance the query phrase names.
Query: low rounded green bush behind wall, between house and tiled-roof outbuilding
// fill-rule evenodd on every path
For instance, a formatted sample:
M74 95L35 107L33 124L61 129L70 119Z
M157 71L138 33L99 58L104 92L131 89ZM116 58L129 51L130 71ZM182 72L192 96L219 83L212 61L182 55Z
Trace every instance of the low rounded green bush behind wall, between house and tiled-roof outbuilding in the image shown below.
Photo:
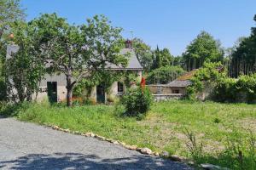
M183 75L183 73L185 73L185 71L183 71L183 69L179 66L166 65L149 72L147 82L149 84L166 84Z

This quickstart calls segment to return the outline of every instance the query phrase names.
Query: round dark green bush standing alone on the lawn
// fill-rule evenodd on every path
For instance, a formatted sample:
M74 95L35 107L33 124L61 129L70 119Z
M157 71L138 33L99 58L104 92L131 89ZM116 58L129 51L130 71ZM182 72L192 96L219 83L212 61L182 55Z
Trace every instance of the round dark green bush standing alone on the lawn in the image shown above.
M125 115L142 118L149 111L152 99L148 88L129 88L121 104L125 105Z

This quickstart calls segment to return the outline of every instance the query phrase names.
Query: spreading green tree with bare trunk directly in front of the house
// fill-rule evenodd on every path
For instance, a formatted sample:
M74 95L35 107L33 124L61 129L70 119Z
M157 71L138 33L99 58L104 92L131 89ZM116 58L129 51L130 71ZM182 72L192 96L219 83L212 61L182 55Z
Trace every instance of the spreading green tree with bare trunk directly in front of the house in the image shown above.
M96 15L82 26L70 26L56 14L43 14L32 22L38 26L39 48L52 72L66 76L67 106L72 105L73 88L82 79L103 73L107 64L127 64L125 56L119 54L122 29L111 26L104 16Z

